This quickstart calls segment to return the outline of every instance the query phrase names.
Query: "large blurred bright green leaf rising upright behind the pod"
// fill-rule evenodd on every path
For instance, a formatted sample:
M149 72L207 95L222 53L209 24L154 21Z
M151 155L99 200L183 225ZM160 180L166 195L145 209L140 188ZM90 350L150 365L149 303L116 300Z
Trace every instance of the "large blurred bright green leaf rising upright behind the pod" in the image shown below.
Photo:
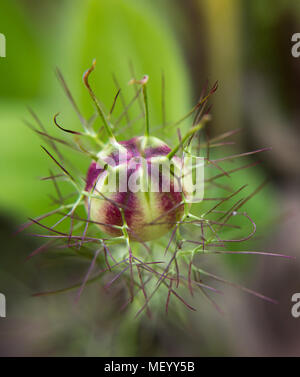
M93 107L81 77L96 58L97 66L90 82L107 109L116 94L112 74L118 79L126 103L133 97L134 88L128 86L132 78L131 62L136 78L144 74L150 77L148 98L153 132L155 126L162 124L162 71L166 83L167 121L175 121L185 114L190 108L187 69L176 39L157 7L143 0L76 1L76 6L74 1L71 3L68 10L70 30L64 39L65 53L60 66L68 81L72 81L77 96L80 91L85 113L91 115ZM116 118L121 111L119 103L115 109ZM134 119L140 112L136 104L130 118ZM131 127L122 137L128 139L142 133L143 120L138 124L139 127ZM172 134L176 139L175 129ZM161 129L157 135L162 136Z

